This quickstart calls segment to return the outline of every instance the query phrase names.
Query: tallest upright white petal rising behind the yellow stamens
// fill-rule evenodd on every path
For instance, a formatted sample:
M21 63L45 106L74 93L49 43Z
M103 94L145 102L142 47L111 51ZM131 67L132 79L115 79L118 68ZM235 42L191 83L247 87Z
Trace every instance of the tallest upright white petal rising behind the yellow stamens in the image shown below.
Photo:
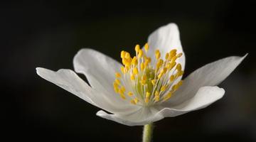
M162 26L149 35L149 52L152 62L154 62L154 52L156 49L160 50L161 57L164 58L166 53L172 49L176 49L177 53L183 53L181 58L178 58L176 62L181 63L182 69L185 67L185 54L181 46L180 35L178 26L175 23L169 23L166 26Z

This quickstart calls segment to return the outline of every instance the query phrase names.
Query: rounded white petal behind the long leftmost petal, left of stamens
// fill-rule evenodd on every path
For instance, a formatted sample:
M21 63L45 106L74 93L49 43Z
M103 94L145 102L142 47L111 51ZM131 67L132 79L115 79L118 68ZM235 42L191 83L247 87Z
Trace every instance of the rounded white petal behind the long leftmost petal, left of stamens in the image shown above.
M96 50L85 48L75 55L73 64L75 72L84 74L92 88L115 94L112 83L114 73L119 72L121 67L119 62Z

